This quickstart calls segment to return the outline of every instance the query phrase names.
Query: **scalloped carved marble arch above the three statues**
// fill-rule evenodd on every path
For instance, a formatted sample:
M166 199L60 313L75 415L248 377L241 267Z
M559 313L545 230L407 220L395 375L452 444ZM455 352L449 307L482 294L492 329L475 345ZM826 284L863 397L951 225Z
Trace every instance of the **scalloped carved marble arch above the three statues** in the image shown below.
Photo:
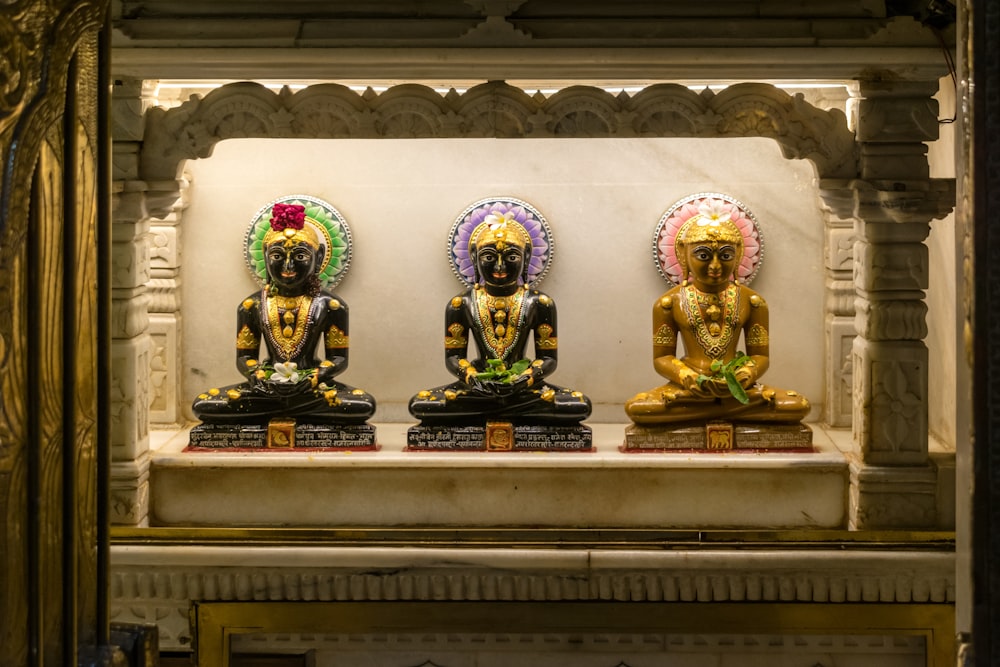
M183 162L212 154L233 138L444 137L767 137L786 158L807 159L820 178L857 174L854 133L839 110L763 83L718 94L658 84L635 95L573 86L529 95L504 82L442 95L418 84L363 93L335 84L273 92L233 83L147 116L140 173L147 182L176 180ZM166 210L154 210L157 217Z

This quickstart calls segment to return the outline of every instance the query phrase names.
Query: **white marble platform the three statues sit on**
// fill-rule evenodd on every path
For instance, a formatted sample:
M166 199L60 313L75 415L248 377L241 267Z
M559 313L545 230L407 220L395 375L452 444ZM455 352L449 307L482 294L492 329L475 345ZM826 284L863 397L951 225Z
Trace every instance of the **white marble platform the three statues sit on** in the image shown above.
M844 528L849 432L814 453L625 454L623 424L591 424L592 453L185 453L160 433L150 525L546 528ZM839 445L839 446L838 446Z

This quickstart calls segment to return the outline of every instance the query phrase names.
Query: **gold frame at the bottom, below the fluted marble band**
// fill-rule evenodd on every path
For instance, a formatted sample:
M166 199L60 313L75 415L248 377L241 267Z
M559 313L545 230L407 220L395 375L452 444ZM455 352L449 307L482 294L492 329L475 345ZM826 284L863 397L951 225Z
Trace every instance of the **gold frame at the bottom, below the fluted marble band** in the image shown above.
M229 667L239 634L428 630L922 636L927 667L945 667L955 664L954 612L877 603L197 602L191 613L197 664L206 667Z

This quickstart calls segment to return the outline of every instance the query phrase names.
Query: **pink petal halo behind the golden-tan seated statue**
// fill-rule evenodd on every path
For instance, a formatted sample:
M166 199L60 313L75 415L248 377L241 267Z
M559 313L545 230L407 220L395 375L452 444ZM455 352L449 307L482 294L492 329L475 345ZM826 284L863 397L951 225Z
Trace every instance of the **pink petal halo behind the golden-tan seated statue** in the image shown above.
M728 218L743 234L743 261L736 269L736 278L749 284L760 269L764 257L764 238L757 218L743 202L718 192L699 192L684 197L663 214L653 234L653 259L660 275L667 282L679 285L684 271L674 243L684 223L701 214L713 220Z

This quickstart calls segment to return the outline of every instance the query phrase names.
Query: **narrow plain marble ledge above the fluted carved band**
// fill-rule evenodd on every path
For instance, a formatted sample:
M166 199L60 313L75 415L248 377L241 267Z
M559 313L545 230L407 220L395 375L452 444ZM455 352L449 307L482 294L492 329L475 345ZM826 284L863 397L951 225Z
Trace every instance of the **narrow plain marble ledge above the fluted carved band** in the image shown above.
M891 552L891 556L887 556ZM954 571L951 551L844 550L818 548L734 549L545 549L545 548L448 548L448 547L354 547L303 545L136 545L111 547L115 570L168 568L264 568L271 572L308 570L358 570L383 574L411 571L468 570L499 572L642 571L739 571L810 572L828 576L839 573L862 576L939 576L949 579Z

